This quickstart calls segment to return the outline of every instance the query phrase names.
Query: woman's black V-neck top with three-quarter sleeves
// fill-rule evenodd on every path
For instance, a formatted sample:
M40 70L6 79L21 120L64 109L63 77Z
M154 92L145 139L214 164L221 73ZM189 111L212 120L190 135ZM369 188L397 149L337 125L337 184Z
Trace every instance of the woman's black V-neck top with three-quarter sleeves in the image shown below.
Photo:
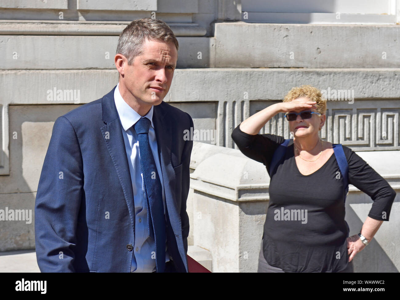
M284 137L250 135L240 130L232 139L244 155L266 166ZM368 163L343 146L348 161L348 183L374 201L368 214L389 221L396 192ZM285 272L338 272L348 263L349 228L344 221L345 187L334 154L317 171L302 175L294 158L293 141L286 149L269 186L270 201L264 223L263 252L268 264Z

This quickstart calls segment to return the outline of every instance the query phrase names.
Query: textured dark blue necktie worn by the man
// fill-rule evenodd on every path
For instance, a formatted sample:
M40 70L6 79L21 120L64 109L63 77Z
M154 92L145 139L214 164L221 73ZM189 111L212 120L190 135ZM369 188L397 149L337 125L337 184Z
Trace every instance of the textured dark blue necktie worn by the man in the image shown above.
M149 235L154 237L156 244L157 272L165 270L165 217L162 200L161 181L158 177L156 163L149 143L150 120L142 117L134 125L138 135L140 167L142 168L144 198L147 204L147 220Z

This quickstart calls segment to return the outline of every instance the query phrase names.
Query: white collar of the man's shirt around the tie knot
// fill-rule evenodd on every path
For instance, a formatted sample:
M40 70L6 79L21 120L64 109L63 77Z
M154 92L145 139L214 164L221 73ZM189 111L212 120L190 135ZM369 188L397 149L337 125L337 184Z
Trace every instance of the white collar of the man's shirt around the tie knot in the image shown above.
M128 103L125 102L125 100L122 98L120 89L119 89L119 83L117 84L115 90L114 90L114 102L115 106L117 107L118 115L120 116L122 128L124 128L125 131L127 131L130 127L132 127L139 119L142 117L139 115L132 107L128 105ZM148 118L151 122L151 126L154 128L153 124L153 107L150 108L148 113L144 116Z

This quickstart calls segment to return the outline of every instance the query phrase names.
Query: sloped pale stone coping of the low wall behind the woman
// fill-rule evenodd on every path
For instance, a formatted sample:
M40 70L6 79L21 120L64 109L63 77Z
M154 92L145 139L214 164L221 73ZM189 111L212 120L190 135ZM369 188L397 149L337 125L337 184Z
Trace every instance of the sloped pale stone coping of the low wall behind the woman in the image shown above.
M202 144L202 145L200 145ZM193 143L190 167L190 188L194 191L212 195L215 199L232 202L255 202L269 200L269 175L262 163L254 161L240 150ZM204 155L207 154L207 156ZM400 192L400 173L392 161L400 161L400 151L356 151L394 190ZM391 161L382 156L391 157ZM349 185L349 193L360 190Z

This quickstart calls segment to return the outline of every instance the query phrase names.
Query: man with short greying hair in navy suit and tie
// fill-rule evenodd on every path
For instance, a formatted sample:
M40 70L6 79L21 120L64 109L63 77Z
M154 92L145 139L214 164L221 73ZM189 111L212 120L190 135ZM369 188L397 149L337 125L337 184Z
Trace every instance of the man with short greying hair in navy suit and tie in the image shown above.
M42 272L188 272L193 121L162 101L177 58L165 22L133 21L118 85L54 123L35 204Z

